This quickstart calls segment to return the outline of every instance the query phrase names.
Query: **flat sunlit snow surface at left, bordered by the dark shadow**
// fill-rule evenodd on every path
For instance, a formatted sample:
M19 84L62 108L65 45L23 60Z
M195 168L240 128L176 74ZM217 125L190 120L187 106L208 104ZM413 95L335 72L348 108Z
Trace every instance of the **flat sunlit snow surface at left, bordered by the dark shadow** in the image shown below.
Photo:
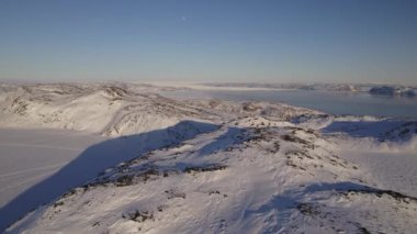
M64 130L0 129L0 205L105 140Z

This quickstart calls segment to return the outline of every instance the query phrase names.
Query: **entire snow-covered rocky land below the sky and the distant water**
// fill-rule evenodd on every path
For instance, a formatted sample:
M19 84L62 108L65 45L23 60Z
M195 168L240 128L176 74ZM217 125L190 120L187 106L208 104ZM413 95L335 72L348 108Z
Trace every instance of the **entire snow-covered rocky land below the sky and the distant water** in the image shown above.
M416 232L417 121L167 89L0 85L0 232Z

